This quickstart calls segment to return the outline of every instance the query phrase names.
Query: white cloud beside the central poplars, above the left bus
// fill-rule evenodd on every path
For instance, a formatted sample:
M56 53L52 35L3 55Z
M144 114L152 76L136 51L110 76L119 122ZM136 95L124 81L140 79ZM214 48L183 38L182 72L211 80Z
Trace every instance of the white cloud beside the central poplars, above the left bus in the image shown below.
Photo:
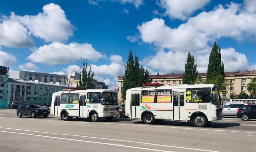
M110 65L91 65L95 76L112 75L117 77L124 74L124 63L122 57L118 55L111 55L109 60L111 61Z

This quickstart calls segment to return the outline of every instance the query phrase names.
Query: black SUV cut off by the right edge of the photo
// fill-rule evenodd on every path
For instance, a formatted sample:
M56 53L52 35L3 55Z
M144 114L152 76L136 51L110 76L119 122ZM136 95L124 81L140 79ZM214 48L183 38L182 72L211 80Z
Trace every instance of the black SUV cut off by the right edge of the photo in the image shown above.
M236 117L242 118L242 120L256 119L256 104L240 107L237 110Z

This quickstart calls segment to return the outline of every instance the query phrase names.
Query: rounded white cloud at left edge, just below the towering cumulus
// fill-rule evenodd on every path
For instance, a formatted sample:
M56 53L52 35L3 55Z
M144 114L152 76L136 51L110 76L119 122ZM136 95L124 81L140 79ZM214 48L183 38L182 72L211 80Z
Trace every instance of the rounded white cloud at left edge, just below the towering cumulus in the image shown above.
M19 22L4 19L0 23L0 45L13 48L32 47L34 44L31 33Z

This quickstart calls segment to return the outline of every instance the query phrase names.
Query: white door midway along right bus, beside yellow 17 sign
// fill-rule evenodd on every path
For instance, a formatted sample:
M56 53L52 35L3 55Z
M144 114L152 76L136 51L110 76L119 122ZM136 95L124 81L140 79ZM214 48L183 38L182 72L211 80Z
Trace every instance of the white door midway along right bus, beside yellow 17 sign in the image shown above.
M173 120L185 121L185 92L173 92Z

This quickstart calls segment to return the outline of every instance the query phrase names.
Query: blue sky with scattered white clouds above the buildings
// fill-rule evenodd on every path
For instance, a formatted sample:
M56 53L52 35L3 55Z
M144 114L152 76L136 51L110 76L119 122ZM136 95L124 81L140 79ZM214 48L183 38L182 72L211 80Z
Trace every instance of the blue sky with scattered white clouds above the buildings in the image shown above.
M256 69L255 0L8 0L0 2L0 66L67 75L92 66L109 89L130 50L151 75L207 72L214 41L225 72Z

